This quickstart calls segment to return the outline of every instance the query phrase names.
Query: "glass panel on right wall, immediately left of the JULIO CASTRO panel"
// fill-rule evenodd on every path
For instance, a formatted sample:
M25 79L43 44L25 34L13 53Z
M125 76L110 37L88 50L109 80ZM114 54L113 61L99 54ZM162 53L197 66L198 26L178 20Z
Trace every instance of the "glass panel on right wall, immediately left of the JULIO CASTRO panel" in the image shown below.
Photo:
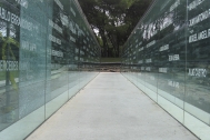
M184 96L186 7L186 1L170 1L160 21L158 93L180 108Z

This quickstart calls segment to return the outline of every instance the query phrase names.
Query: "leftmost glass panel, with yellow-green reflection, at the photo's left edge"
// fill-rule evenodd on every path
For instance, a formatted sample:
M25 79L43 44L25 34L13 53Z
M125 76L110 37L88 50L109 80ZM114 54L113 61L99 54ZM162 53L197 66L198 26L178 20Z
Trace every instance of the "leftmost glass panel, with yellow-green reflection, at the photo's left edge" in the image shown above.
M0 130L2 130L19 118L20 27L12 24L9 16L12 13L20 17L20 11L10 1L0 3Z

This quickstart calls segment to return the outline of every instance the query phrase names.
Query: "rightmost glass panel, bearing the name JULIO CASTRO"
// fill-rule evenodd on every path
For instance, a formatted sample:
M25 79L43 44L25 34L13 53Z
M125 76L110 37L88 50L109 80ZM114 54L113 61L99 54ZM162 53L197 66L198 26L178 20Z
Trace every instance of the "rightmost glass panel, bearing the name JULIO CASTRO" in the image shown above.
M210 1L188 2L186 110L210 124Z

